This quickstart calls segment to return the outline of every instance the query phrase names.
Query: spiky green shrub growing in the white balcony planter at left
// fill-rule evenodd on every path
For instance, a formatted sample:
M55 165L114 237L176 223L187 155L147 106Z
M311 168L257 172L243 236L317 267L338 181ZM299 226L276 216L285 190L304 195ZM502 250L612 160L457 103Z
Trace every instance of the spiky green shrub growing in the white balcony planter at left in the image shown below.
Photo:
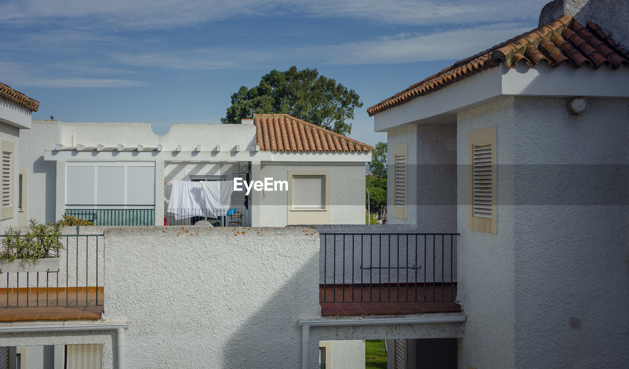
M9 227L4 232L0 260L24 259L25 264L37 264L37 259L58 257L59 251L65 249L60 241L60 223L44 225L31 219L30 225L28 231Z

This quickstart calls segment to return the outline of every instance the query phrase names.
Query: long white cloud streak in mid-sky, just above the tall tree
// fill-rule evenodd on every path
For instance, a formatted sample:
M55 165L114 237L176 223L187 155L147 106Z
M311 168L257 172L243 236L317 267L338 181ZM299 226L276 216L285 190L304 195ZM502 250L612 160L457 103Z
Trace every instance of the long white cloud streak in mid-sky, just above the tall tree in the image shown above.
M429 35L401 33L338 45L276 48L266 53L221 48L179 50L172 53L114 54L112 57L119 63L138 67L191 70L275 67L277 63L297 64L302 61L330 65L359 65L459 60L532 28L531 25L499 23Z

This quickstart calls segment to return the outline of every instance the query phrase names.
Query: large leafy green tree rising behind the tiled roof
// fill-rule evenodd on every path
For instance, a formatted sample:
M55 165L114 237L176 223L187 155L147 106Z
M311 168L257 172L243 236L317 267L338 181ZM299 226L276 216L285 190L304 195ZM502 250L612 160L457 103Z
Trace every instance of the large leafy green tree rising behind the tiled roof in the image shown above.
M297 70L292 66L284 72L270 71L255 87L240 87L231 95L231 106L221 123L239 124L253 114L290 114L347 135L352 124L345 120L353 119L357 107L362 107L362 102L354 90L319 75L316 68Z

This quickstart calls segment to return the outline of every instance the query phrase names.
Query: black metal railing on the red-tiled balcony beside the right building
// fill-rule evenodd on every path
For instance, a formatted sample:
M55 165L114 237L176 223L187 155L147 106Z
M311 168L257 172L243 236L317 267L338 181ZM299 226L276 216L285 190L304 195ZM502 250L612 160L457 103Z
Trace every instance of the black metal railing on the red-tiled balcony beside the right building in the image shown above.
M455 301L459 233L321 233L321 302Z

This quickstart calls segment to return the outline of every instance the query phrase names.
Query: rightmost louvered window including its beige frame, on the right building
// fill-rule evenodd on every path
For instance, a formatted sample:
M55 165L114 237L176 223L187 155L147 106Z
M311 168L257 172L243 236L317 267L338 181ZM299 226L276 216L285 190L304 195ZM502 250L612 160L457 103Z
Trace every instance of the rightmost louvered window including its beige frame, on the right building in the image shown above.
M496 127L467 134L467 228L497 233Z

